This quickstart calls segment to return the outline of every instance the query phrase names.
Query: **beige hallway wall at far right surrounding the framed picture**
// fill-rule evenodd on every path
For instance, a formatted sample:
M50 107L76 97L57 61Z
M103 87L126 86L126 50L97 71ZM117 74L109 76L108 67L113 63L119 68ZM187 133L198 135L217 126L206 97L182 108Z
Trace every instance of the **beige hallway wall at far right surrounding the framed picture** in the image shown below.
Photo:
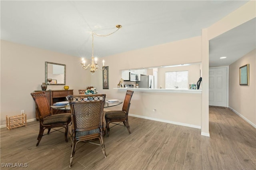
M249 64L249 86L239 85L239 67ZM229 66L229 107L256 127L256 49Z

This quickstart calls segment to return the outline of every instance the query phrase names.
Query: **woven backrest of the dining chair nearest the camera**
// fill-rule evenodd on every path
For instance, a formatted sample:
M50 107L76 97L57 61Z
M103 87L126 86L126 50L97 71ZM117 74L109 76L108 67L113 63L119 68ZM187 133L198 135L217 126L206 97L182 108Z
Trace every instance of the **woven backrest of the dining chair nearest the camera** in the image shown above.
M98 128L103 129L105 98L106 94L68 95L72 114L73 133L90 131ZM100 131L102 131L102 129ZM77 135L74 134L74 136Z

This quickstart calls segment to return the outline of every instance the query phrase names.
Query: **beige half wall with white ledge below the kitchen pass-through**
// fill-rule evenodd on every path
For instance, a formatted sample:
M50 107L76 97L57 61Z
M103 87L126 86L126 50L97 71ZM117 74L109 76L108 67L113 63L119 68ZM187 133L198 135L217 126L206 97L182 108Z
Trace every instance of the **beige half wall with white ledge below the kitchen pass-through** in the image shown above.
M113 88L122 99L134 91L129 115L143 119L201 128L202 89Z

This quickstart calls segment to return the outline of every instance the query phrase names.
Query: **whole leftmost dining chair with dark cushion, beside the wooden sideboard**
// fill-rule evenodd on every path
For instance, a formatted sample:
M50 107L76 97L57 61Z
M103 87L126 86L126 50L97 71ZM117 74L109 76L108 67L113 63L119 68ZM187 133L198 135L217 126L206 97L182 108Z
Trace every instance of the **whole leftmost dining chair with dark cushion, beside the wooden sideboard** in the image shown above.
M36 110L38 112L39 121L40 121L40 130L37 137L38 146L42 136L44 136L44 130L47 128L49 133L55 132L54 130L50 132L51 128L63 127L65 128L65 140L68 142L67 134L68 134L68 124L71 122L71 114L70 113L60 113L56 115L52 115L50 111L50 105L46 98L44 91L30 93L36 103Z

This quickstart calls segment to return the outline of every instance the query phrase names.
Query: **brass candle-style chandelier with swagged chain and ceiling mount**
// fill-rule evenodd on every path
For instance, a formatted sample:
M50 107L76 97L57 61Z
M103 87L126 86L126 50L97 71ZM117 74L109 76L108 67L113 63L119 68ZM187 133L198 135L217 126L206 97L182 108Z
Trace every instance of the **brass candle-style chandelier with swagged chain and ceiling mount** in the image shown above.
M92 32L92 63L90 63L90 64L86 64L86 61L85 61L85 59L84 58L82 58L82 63L81 63L81 65L82 65L82 68L83 69L85 69L85 70L87 70L88 68L90 68L90 72L92 73L92 75L98 70L98 68L99 68L99 66L98 66L98 59L97 58L94 58L94 51L93 51L93 36L97 36L97 37L106 37L106 36L110 36L111 34L114 34L115 32L117 32L120 28L121 28L122 26L121 25L116 25L116 28L117 28L117 30L116 31L114 31L114 32L112 32L112 33L110 33L110 34L107 34L107 35L99 35L99 34L96 34L95 32ZM100 70L104 70L105 69L105 61L104 60L102 60L102 63L103 63L103 65L102 65L102 69L100 69Z

